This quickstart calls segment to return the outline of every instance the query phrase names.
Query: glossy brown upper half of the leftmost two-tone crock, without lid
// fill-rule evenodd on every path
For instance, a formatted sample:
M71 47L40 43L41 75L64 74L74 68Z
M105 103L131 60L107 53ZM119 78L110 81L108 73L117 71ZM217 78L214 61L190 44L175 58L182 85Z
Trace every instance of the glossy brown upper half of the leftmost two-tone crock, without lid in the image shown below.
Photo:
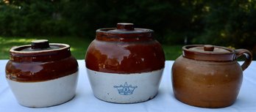
M21 82L48 81L77 72L77 60L71 56L69 45L50 46L54 49L33 50L33 45L11 48L6 78Z

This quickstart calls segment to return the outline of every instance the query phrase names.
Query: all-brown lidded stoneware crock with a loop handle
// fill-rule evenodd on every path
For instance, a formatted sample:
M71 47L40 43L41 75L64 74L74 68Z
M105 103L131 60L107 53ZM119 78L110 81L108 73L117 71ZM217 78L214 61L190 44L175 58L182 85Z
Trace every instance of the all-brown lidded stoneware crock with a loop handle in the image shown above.
M172 86L177 100L203 108L232 105L241 88L243 70L252 61L245 49L214 45L185 45L172 67ZM237 58L246 56L242 65Z

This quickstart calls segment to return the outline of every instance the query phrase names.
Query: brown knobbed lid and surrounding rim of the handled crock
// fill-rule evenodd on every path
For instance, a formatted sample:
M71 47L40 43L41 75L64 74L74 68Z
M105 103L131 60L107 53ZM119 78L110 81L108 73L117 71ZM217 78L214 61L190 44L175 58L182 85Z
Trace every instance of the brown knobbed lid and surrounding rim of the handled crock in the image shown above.
M182 55L188 59L202 61L233 61L235 51L216 45L185 45Z

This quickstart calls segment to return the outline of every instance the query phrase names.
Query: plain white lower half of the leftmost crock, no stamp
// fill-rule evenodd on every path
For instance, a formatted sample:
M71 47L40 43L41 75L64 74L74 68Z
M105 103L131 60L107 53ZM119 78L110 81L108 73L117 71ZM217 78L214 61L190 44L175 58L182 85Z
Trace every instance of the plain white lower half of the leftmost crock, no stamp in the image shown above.
M18 103L43 108L71 100L77 89L78 72L49 81L18 82L7 79Z

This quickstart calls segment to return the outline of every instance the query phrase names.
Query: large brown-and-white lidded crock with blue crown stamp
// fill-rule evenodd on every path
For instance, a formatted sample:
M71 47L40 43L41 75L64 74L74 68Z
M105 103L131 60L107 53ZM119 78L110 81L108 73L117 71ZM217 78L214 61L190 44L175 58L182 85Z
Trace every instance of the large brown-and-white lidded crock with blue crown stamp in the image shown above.
M95 97L134 103L156 96L165 56L151 29L118 23L117 28L96 30L85 63Z

